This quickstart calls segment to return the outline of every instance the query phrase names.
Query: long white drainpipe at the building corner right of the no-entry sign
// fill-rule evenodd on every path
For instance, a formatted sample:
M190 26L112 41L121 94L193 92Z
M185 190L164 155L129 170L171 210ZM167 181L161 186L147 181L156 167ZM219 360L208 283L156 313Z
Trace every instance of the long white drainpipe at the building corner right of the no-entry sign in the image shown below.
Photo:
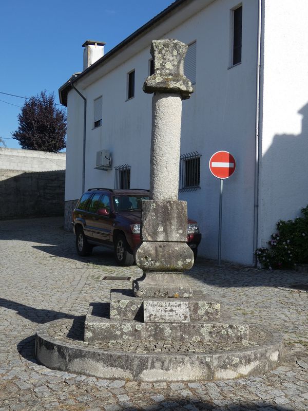
M257 71L256 71L256 129L255 129L255 194L254 194L254 251L258 247L258 217L259 217L259 167L260 167L260 63L261 63L261 30L262 30L262 0L258 0L258 43L257 43ZM257 258L254 256L257 266Z

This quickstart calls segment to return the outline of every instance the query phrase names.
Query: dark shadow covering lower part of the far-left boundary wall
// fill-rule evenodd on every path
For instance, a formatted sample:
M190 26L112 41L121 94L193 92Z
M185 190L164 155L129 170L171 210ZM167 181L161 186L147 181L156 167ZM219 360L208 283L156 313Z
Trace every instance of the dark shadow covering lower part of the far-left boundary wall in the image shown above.
M0 220L64 214L65 170L1 170Z

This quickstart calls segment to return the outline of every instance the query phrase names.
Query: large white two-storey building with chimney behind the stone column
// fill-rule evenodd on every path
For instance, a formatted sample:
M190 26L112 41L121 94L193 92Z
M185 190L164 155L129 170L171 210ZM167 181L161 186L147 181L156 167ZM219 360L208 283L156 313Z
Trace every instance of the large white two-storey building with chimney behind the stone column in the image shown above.
M179 198L199 222L199 255L216 258L219 179L208 161L219 150L233 154L222 259L253 264L276 222L308 203L307 15L307 0L177 0L105 55L104 43L86 42L84 71L60 88L68 107L67 210L83 190L113 188L129 174L131 188L148 188L151 96L142 85L149 49L153 39L177 39L191 45L185 73L195 83L183 101L181 153L198 153L200 164L200 181L199 170L183 180L188 190L200 188ZM95 168L102 150L111 170ZM183 159L183 173L191 163Z

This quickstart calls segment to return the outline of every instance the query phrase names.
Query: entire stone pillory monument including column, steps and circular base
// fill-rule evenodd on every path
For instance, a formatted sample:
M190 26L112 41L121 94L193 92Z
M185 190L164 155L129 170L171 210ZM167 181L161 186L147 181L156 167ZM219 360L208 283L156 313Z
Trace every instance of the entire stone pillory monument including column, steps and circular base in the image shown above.
M283 358L279 338L221 319L220 304L193 293L183 275L194 263L186 201L178 200L182 99L192 92L183 75L186 50L176 40L153 41L155 73L143 88L154 93L151 199L142 201L143 242L135 255L143 276L132 290L111 290L108 312L102 303L89 306L84 342L52 337L48 327L62 332L67 319L38 329L36 357L50 368L99 378L196 381L263 374ZM74 327L75 321L71 333L78 335Z

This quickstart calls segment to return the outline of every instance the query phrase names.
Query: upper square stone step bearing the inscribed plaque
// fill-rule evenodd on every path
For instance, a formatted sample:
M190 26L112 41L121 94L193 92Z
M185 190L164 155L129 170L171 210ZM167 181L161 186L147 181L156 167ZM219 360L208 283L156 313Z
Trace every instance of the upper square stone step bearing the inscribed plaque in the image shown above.
M134 297L130 290L111 290L110 319L150 323L188 323L220 318L220 304L205 294L191 298Z

